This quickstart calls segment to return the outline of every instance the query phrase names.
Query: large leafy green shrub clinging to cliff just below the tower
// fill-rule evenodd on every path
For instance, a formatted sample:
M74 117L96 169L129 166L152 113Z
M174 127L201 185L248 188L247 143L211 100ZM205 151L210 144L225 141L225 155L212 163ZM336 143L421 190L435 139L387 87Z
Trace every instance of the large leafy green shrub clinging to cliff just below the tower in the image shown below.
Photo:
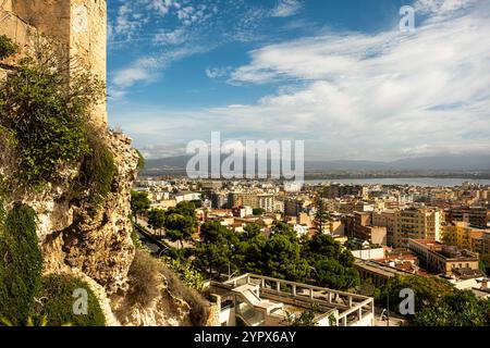
M0 125L17 140L20 176L38 186L54 181L60 169L90 152L89 110L102 98L103 85L86 73L70 73L54 50L41 47L24 58L0 85Z

